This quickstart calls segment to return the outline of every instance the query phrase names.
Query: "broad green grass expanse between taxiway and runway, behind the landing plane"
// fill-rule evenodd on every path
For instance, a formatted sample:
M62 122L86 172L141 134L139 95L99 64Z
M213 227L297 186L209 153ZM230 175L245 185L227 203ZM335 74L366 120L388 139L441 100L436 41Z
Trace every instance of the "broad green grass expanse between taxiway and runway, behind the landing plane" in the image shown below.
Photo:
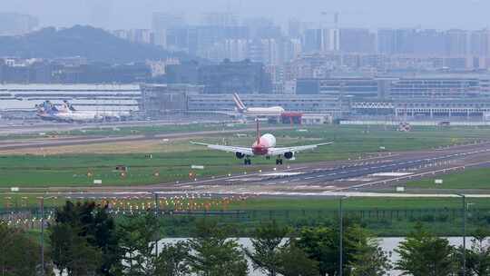
M191 130L191 126L182 126ZM384 151L407 151L429 149L454 143L466 143L490 136L490 128L415 128L411 133L398 133L393 127L358 127L322 125L301 127L308 132L282 130L274 132L279 146L323 143L334 141L333 146L323 147L311 153L299 153L297 160L291 163L309 163L328 160L346 160L357 158L364 153ZM178 129L182 131L182 128ZM165 129L167 132L175 130ZM196 131L192 129L192 131ZM155 132L160 133L160 132ZM232 145L249 145L253 142L253 133L249 137L238 138L233 134L212 135L201 142ZM165 153L165 147L178 146L178 152ZM226 175L228 173L257 172L264 165L274 161L256 158L255 166L245 168L241 161L231 153L208 151L191 146L188 141L169 145L160 145L152 153L152 159L145 158L146 153L79 153L54 155L4 155L0 156L0 187L45 187L45 186L87 186L94 179L103 180L103 185L139 185L161 182L189 180L189 173L197 178L208 175ZM205 165L204 171L191 171L192 164ZM125 165L129 171L125 175L115 172L116 165Z

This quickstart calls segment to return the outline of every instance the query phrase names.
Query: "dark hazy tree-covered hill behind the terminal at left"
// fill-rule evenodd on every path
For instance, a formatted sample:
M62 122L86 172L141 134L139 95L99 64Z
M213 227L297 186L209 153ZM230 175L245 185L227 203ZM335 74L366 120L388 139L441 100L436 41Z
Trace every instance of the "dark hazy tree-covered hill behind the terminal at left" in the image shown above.
M56 30L53 27L23 36L0 36L0 56L56 58L83 56L91 61L126 63L169 56L190 60L187 54L170 54L149 44L134 44L103 29L75 25Z

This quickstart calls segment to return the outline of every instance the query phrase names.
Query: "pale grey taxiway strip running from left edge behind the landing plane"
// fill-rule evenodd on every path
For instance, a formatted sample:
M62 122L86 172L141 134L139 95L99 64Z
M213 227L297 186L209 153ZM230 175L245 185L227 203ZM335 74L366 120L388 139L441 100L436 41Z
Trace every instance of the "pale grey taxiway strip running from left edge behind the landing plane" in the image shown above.
M291 127L264 127L264 131L275 131L275 130L285 130ZM118 143L118 142L138 142L138 141L152 141L161 139L177 139L177 138L187 138L192 136L207 136L214 134L223 133L247 133L255 132L255 128L244 128L244 129L233 129L233 130L221 130L221 131L202 131L202 132L191 132L191 133L166 133L166 134L155 134L155 135L129 135L129 136L111 136L111 137L60 137L60 138L50 138L50 139L27 139L22 141L2 141L0 142L0 152L18 150L18 149L30 149L30 148L49 148L57 146L66 145L86 145L86 144L96 144L96 143Z

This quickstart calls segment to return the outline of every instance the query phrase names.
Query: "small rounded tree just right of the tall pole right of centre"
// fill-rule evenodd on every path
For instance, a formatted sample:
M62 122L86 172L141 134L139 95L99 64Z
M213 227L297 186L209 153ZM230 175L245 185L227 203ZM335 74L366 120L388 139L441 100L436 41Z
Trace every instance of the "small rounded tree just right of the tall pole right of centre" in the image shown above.
M384 276L391 270L387 252L378 246L376 240L359 242L357 254L350 261L351 276Z

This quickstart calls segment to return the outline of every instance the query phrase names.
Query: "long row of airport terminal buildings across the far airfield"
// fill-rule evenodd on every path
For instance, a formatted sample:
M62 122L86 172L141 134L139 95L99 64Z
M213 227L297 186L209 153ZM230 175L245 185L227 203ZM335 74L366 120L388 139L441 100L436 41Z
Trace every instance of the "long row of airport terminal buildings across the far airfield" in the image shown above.
M240 94L247 107L351 119L490 120L490 80L454 78L330 78L298 80L296 94ZM234 112L232 92L198 84L0 84L0 114L34 117L35 105L68 101L78 110L132 112L138 117Z

